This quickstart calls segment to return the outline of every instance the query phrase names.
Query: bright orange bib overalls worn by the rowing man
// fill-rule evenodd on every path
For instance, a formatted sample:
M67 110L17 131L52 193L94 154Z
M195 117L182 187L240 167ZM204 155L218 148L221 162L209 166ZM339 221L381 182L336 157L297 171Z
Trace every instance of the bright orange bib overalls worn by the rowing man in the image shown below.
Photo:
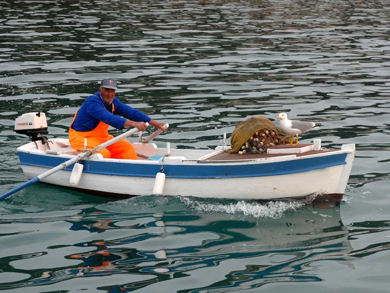
M73 118L75 121L77 113ZM114 136L108 134L108 124L99 122L98 126L91 131L76 131L72 128L73 122L69 127L69 143L77 150L84 150L84 138L87 139L87 148L94 148L110 139ZM137 154L134 147L127 140L122 139L106 148L102 148L97 151L103 155L104 158L112 159L133 159L137 160Z

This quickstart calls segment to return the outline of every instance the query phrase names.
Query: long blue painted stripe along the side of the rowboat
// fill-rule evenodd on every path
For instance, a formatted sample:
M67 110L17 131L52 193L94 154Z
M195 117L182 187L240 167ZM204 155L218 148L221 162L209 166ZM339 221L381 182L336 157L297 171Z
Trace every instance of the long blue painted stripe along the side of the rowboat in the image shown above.
M18 152L21 165L39 166L53 168L67 161L60 157L28 154ZM261 164L242 164L242 165L164 165L165 174L168 178L236 178L236 177L262 177L275 176L305 172L326 167L346 164L347 154L333 154L314 158L301 158L300 160L270 162ZM84 173L114 175L114 176L132 176L132 177L155 177L160 170L159 164L134 164L134 163L115 163L82 161ZM71 171L73 165L66 167Z

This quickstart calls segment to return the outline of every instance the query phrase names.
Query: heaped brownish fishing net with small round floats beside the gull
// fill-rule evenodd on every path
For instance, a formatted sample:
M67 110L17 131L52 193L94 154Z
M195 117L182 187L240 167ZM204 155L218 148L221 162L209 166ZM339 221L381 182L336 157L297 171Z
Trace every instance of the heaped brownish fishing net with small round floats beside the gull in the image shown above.
M229 153L266 153L267 148L291 143L292 136L264 116L251 117L237 125L232 133Z

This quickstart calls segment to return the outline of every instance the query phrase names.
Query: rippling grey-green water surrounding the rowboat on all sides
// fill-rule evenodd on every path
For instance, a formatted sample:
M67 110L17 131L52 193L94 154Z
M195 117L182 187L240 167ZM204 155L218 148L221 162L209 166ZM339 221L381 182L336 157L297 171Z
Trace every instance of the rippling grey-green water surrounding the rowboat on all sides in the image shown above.
M279 112L325 125L303 142L357 146L333 208L26 188L0 203L1 291L388 291L388 0L0 4L1 193L26 180L15 118L44 111L49 137L66 137L106 77L170 124L159 146L215 147Z

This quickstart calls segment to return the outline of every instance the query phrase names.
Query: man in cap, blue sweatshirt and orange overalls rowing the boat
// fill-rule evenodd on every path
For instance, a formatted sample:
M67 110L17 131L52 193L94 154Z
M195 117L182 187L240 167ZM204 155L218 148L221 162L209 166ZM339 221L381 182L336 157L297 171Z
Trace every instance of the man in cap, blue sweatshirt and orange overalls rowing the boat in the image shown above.
M69 142L73 148L84 150L85 138L87 139L86 147L89 149L112 139L114 136L108 134L109 126L117 129L137 127L143 131L148 122L152 126L166 130L163 127L165 123L156 122L140 110L120 102L115 96L116 90L116 80L103 79L99 90L81 105L69 127ZM104 158L137 159L134 147L126 139L102 148L97 153L102 154Z

